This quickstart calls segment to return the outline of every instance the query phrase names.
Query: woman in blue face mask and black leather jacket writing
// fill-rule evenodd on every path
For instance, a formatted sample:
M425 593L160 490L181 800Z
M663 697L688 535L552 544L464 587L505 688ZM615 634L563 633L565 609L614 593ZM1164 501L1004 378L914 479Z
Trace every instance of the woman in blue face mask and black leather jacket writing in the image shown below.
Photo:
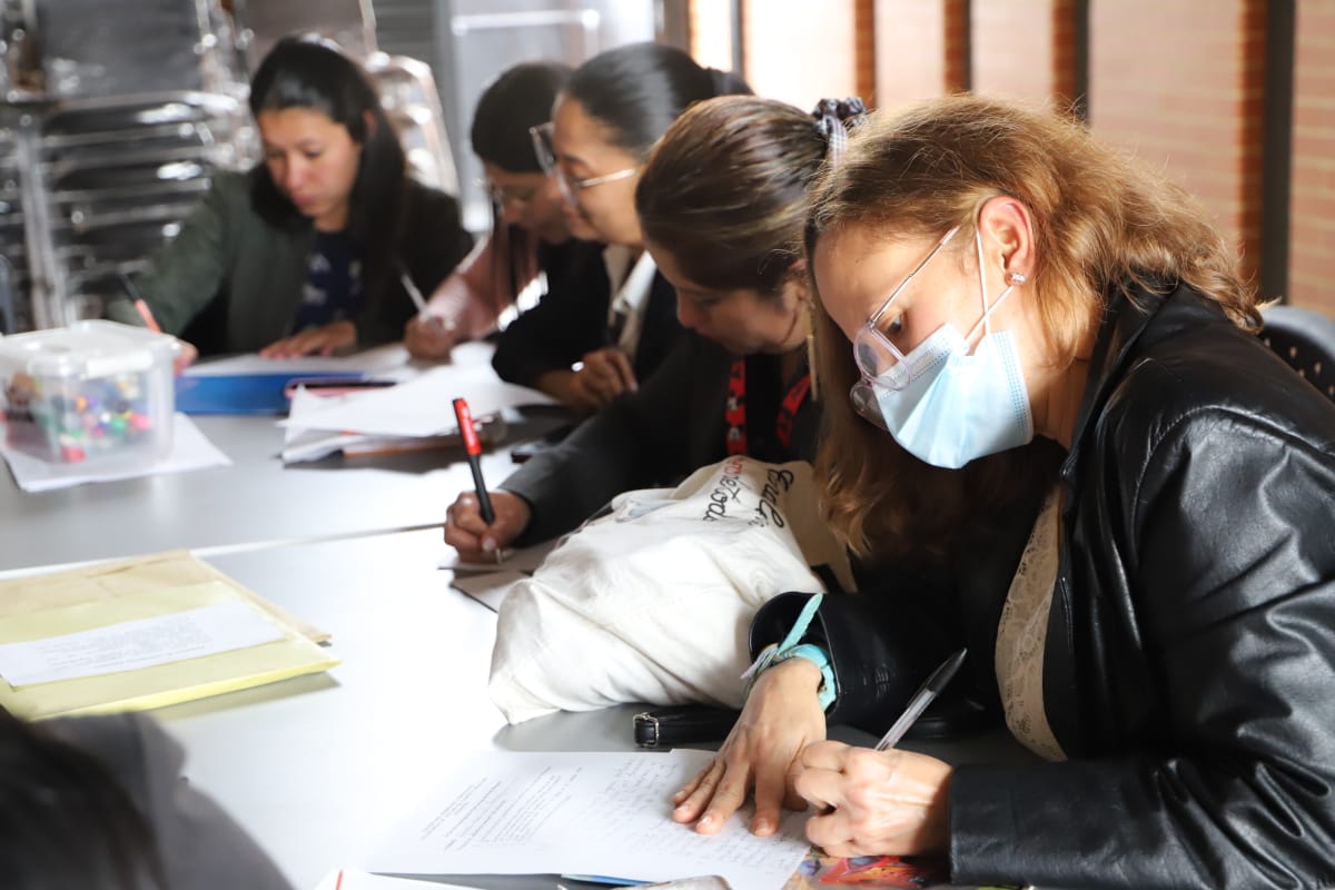
M1328 882L1335 407L1254 336L1232 246L1079 125L969 96L857 131L813 201L820 374L850 394L825 510L949 583L821 602L793 642L825 671L774 659L677 818L754 786L756 827L805 799L828 853L943 854L955 883ZM924 638L922 675L968 646L956 690L1033 763L806 743L884 730Z

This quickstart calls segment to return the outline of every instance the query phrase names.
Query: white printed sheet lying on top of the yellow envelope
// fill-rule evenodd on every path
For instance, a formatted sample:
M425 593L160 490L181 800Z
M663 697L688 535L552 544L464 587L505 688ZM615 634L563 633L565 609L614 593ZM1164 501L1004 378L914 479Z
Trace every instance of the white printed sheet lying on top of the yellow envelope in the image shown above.
M0 677L11 686L132 671L282 639L246 602L218 603L60 636L0 644Z

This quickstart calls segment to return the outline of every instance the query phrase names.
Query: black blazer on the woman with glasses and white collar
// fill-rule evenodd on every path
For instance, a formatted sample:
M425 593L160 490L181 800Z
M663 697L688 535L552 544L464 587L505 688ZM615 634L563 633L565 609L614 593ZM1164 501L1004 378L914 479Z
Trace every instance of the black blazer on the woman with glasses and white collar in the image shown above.
M546 296L501 334L491 367L502 380L527 387L547 371L569 368L586 352L607 346L610 304L602 244L585 243L563 279L549 280ZM677 291L654 274L633 366L637 380L649 380L680 335Z

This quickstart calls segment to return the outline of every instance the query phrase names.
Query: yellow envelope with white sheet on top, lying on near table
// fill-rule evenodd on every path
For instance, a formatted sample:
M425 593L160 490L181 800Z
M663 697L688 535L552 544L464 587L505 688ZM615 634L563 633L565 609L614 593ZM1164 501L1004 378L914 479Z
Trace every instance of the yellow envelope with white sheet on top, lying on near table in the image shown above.
M175 705L338 664L303 624L180 551L0 583L0 705L20 717Z

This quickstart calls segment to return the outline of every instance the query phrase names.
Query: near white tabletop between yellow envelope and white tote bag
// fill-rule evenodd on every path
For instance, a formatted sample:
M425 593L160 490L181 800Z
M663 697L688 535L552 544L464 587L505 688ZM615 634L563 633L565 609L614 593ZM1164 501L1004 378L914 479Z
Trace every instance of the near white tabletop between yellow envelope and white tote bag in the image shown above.
M449 587L442 548L423 530L210 559L330 631L343 658L326 675L156 711L184 742L191 781L298 890L368 851L505 726L486 693L495 614Z

